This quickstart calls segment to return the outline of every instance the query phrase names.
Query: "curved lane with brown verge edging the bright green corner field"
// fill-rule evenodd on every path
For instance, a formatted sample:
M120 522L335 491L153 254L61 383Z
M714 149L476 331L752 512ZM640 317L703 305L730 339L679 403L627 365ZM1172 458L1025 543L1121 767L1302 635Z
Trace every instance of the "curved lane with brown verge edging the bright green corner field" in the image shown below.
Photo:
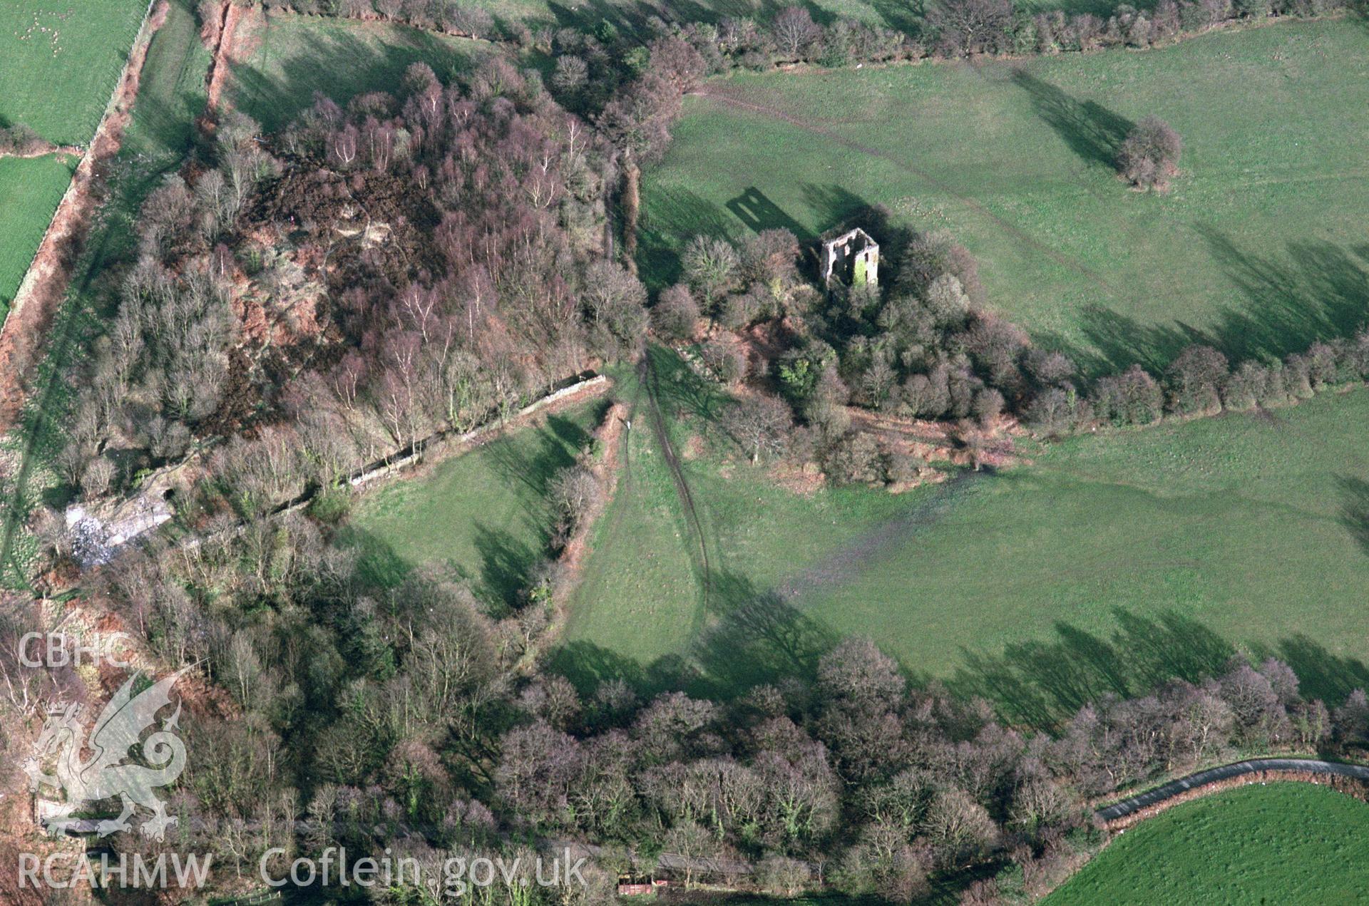
M1094 816L1108 829L1123 829L1160 814L1170 806L1231 786L1270 780L1321 783L1318 777L1328 777L1332 786L1335 786L1336 779L1369 784L1369 766L1320 758L1249 758L1170 780L1146 792L1098 809Z

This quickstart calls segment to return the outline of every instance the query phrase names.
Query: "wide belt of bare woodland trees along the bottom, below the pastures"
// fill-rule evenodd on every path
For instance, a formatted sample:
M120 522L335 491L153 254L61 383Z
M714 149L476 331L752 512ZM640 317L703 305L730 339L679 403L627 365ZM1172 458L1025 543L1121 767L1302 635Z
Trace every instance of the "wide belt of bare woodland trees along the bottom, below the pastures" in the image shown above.
M201 661L230 699L186 716L194 758L174 801L182 827L205 828L178 846L212 850L230 876L271 846L441 864L570 839L601 847L587 887L497 888L498 902L606 903L663 850L749 862L747 883L786 895L831 885L908 902L938 873L990 864L1017 866L995 895L1039 895L1097 846L1098 797L1238 753L1369 743L1362 691L1328 709L1276 660L1138 698L1095 691L1050 734L910 684L867 639L728 701L643 694L613 669L579 687L522 676L542 602L497 610L460 582L396 579L303 517L219 547L153 545L101 571L92 594L160 658ZM787 638L782 604L738 608L730 632ZM7 709L62 682L18 661L25 628L0 646Z

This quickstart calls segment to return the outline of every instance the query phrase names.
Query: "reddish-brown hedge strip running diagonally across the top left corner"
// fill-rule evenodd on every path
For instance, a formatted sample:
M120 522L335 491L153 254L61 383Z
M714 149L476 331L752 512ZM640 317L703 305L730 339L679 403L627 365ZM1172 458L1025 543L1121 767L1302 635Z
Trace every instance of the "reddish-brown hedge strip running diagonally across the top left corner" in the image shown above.
M97 170L119 153L123 129L137 100L142 64L148 57L152 36L162 27L166 14L167 0L148 1L100 125L48 222L5 313L4 324L0 326L0 430L10 428L23 408L23 376L37 361L44 345L42 333L66 298L75 252L85 241L94 215L94 196L103 183L103 174Z

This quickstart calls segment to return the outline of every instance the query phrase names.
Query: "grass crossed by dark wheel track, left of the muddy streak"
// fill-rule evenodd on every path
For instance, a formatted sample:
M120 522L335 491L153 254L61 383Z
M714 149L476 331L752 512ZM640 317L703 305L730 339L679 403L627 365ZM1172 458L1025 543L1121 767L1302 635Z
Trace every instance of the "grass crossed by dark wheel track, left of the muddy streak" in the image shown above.
M720 631L741 605L783 582L794 564L820 561L909 509L906 498L864 489L804 497L753 468L715 424L727 398L694 378L674 353L652 350L664 423L682 452L700 532L683 510L652 431L643 385L619 374L635 408L619 490L593 536L570 608L560 666L590 683L632 676L649 686L737 687L806 671L824 627L795 630L798 647L741 651L745 632ZM694 456L691 457L691 450ZM704 556L706 550L708 564ZM705 578L708 593L705 594ZM775 605L776 612L786 608ZM799 647L802 650L799 650ZM695 676L695 671L702 671Z

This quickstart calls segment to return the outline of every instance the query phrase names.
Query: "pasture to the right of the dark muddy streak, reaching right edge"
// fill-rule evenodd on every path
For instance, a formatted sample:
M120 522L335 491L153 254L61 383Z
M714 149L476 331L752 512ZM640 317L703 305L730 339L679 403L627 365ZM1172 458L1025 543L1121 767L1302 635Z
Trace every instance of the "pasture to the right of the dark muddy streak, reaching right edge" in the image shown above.
M1023 720L1276 654L1335 701L1369 679L1369 391L1076 438L965 486L799 606Z

